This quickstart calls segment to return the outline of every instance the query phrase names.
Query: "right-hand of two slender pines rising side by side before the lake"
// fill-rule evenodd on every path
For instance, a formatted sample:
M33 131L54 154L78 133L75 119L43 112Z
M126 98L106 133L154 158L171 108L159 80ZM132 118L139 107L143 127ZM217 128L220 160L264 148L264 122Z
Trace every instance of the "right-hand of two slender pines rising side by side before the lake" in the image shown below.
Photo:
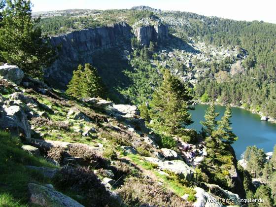
M218 127L216 130L217 136L227 144L233 144L238 138L232 132L230 118L232 117L231 107L227 105L223 117L218 121Z

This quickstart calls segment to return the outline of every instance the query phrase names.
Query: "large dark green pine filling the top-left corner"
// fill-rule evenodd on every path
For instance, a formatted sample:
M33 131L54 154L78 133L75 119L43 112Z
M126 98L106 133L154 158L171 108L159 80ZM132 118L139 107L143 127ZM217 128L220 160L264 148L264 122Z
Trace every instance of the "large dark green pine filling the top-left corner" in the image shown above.
M0 27L1 59L36 77L42 77L42 68L55 57L49 38L35 27L39 21L32 19L30 0L6 0Z

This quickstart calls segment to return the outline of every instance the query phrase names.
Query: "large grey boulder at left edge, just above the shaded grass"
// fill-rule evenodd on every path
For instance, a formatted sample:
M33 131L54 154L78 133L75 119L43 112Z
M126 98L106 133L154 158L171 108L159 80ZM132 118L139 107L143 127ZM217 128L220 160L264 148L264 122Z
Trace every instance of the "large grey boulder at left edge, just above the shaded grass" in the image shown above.
M8 129L13 135L21 133L31 138L31 127L24 110L18 105L0 106L0 129Z

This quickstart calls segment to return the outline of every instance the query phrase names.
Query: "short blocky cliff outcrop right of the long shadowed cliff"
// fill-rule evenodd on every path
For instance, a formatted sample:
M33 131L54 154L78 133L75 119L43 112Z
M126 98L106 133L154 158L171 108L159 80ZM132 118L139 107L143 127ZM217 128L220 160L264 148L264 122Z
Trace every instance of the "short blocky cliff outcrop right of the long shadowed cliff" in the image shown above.
M155 26L138 27L135 36L142 44L149 44L150 41L164 41L169 37L167 25L159 24Z

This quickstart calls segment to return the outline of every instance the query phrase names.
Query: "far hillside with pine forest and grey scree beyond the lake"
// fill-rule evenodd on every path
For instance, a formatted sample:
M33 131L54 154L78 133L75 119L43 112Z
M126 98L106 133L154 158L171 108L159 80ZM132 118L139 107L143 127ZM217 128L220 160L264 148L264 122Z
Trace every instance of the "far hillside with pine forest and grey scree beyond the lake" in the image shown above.
M274 121L276 118L276 94L274 91L276 26L274 24L234 21L188 12L156 11L147 7L131 10L59 11L58 14L52 12L51 15L51 12L48 12L45 16L43 15L42 13L39 26L48 35L71 33L72 31L79 31L77 33L82 34L82 30L85 28L105 27L120 22L127 23L130 27L128 29L129 38L120 40L120 43L114 42L112 48L119 50L123 59L130 55L131 60L135 58L134 51L130 49L130 38L137 36L139 39L139 33L143 35L141 36L142 43L149 44L150 40L155 42L157 39L150 36L150 31L147 34L140 31L139 28L145 28L143 30L146 31L150 25L163 24L168 27L169 36L166 41L158 42L158 47L153 52L156 53L155 58L149 56L148 67L171 69L174 74L192 84L194 95L198 100L205 95L205 102L230 103L269 116L270 121ZM72 32L72 34L77 33ZM118 47L118 45L120 46ZM101 49L106 49L106 46ZM109 45L107 49L110 50L111 46ZM92 52L97 59L96 50ZM79 54L80 57L82 57L81 54ZM104 74L110 72L109 70L105 71L106 64L110 60L108 53L103 52L100 56L103 57L105 54L107 63L95 61L103 77L105 77ZM86 60L92 63L92 59L86 58ZM114 59L111 60L110 65L114 63ZM69 62L71 61L69 60ZM125 62L117 57L115 65L118 65L119 68L117 70L115 66L115 71L119 74L122 70L132 71L133 64L126 66ZM76 64L72 64L63 68L69 68L69 71L72 71L75 67ZM121 77L124 80L131 79L132 73L128 72L127 77L123 77L125 76L123 74L117 76L117 82L112 84L110 89L112 93L114 88L117 88L118 96L124 94L125 90L133 91L132 88L139 88L139 86L131 84L131 80L120 81ZM158 74L157 71L155 73ZM138 96L140 95L138 94ZM132 98L127 100L121 98L119 102L141 103Z

